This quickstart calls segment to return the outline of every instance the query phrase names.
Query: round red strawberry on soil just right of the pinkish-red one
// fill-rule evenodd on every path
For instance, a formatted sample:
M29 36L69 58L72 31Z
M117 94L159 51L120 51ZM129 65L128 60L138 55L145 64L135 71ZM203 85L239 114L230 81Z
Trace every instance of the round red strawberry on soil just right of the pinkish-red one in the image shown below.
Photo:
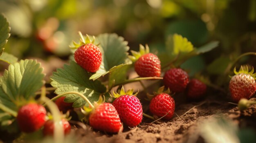
M160 93L150 101L149 110L152 114L159 118L163 117L169 112L162 119L170 120L173 117L175 110L174 99L166 93Z

